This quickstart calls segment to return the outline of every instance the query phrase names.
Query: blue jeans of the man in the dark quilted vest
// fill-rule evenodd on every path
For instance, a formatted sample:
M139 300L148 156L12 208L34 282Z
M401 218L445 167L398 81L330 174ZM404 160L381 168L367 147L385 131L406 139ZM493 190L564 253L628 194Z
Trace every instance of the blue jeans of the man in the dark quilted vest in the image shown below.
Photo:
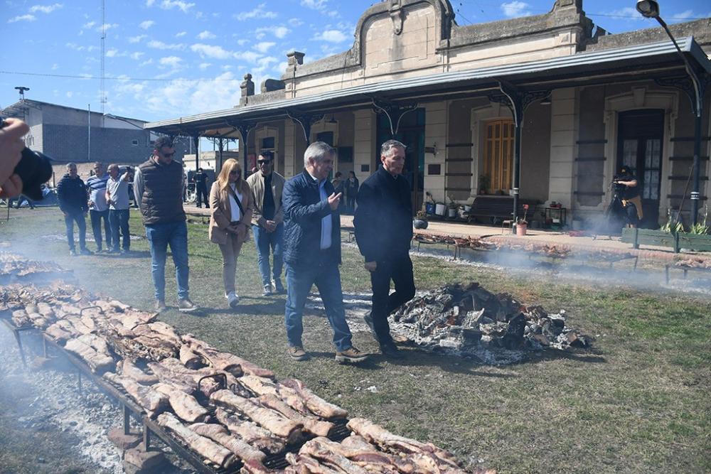
M188 299L188 225L184 220L146 225L146 237L151 249L151 275L156 288L156 300L166 299L166 257L171 246L176 265L178 298Z

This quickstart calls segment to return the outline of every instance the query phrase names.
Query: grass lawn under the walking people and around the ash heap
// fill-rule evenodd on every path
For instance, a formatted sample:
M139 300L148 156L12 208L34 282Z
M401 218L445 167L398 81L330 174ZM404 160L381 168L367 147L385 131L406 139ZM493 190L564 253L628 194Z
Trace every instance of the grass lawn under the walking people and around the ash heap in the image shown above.
M130 225L133 234L144 235L136 212ZM568 324L594 337L592 348L547 352L507 367L414 349L405 350L403 361L373 357L363 367L341 366L333 361L330 328L314 315L304 317L304 345L313 357L292 362L286 356L284 296L260 296L254 244L243 247L237 262L242 305L235 314L226 308L222 258L208 241L207 226L189 224L188 230L191 298L207 309L185 315L173 308L160 319L269 367L277 377L303 379L351 416L432 441L466 465L500 473L711 472L711 301L705 296L413 257L419 290L479 281L489 291L513 293L550 311L565 308ZM145 239L132 242L137 255L130 258L69 257L66 242L46 237L63 232L56 208L11 210L0 240L74 269L90 291L153 307ZM93 242L88 246L93 249ZM362 263L357 250L343 247L345 293L369 291ZM170 306L174 272L166 276ZM377 348L369 333L355 333L353 340L361 350Z

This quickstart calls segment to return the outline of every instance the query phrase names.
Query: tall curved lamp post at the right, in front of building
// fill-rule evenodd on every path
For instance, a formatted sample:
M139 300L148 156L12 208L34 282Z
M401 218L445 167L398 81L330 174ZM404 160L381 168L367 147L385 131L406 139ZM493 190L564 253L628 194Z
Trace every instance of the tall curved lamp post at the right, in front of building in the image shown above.
M701 114L703 112L704 87L702 86L699 77L696 75L696 72L691 67L691 63L689 63L689 60L686 58L681 48L679 48L678 43L674 39L674 36L672 36L671 31L669 31L669 27L661 18L661 16L659 16L659 4L654 0L637 0L636 7L637 11L642 16L644 16L645 18L654 18L661 25L661 27L664 28L664 31L667 33L667 36L669 36L671 42L674 43L677 52L681 56L681 59L684 61L684 67L694 87L694 97L691 104L691 108L694 113L694 161L692 165L694 189L693 191L691 191L691 217L692 223L695 225L698 219L699 211L699 160L701 154Z

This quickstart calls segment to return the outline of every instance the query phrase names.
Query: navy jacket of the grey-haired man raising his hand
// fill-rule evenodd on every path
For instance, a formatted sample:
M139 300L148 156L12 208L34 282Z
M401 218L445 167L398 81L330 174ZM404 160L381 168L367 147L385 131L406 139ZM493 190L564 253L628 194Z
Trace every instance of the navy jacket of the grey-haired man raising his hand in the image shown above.
M333 185L326 180L326 195L333 193ZM321 200L319 183L304 170L284 184L284 262L303 266L323 262L341 263L341 215L331 210L328 201ZM321 219L331 215L331 247L321 251ZM326 252L326 254L322 254Z

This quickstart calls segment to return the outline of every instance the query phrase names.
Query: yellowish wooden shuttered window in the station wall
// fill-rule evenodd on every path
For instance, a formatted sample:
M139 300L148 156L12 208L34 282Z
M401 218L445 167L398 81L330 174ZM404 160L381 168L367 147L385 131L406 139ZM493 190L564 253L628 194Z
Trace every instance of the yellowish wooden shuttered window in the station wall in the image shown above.
M486 124L483 174L490 182L487 191L508 194L513 177L513 121L492 120Z

